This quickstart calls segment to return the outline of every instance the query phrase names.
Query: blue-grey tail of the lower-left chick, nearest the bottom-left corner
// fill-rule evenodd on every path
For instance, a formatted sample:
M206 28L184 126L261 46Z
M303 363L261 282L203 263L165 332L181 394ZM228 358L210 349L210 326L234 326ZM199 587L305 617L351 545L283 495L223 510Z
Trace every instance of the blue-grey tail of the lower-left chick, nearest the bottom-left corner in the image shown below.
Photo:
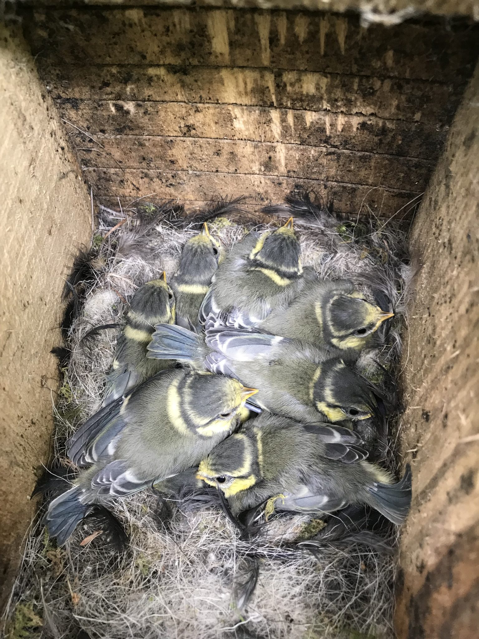
M57 538L57 544L63 546L73 530L91 509L91 505L80 502L82 489L75 486L50 502L45 515L45 526L50 537Z

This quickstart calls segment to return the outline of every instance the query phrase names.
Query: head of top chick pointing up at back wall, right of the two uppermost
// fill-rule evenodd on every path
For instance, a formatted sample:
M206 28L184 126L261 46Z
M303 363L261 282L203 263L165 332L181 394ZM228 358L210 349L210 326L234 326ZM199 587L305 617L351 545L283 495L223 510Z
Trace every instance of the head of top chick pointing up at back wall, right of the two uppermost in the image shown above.
M279 279L301 275L301 245L294 233L293 218L276 231L262 233L250 252L249 261L254 268L273 270Z

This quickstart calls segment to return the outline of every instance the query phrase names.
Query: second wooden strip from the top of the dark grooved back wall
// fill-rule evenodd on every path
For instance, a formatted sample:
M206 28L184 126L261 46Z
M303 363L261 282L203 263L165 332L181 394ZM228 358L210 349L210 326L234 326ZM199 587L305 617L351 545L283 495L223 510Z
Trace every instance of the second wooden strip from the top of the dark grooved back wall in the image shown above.
M38 63L53 98L238 104L375 115L439 125L460 100L450 84L268 68Z

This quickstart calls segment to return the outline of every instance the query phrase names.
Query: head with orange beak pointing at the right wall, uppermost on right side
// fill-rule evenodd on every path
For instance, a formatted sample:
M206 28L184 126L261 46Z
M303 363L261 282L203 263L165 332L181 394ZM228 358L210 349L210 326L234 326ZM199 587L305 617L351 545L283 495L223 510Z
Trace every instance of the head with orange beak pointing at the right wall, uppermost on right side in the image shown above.
M324 337L342 349L364 348L383 321L393 315L370 304L358 291L333 293L326 304L316 304L316 316L323 326Z

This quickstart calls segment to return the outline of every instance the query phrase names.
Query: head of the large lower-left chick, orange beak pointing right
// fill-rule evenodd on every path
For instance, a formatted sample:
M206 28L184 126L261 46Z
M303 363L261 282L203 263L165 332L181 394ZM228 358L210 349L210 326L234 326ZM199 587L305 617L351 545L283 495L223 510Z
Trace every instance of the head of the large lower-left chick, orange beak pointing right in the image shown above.
M168 389L169 418L180 431L204 437L231 432L239 424L248 397L255 393L256 389L229 377L189 373Z

